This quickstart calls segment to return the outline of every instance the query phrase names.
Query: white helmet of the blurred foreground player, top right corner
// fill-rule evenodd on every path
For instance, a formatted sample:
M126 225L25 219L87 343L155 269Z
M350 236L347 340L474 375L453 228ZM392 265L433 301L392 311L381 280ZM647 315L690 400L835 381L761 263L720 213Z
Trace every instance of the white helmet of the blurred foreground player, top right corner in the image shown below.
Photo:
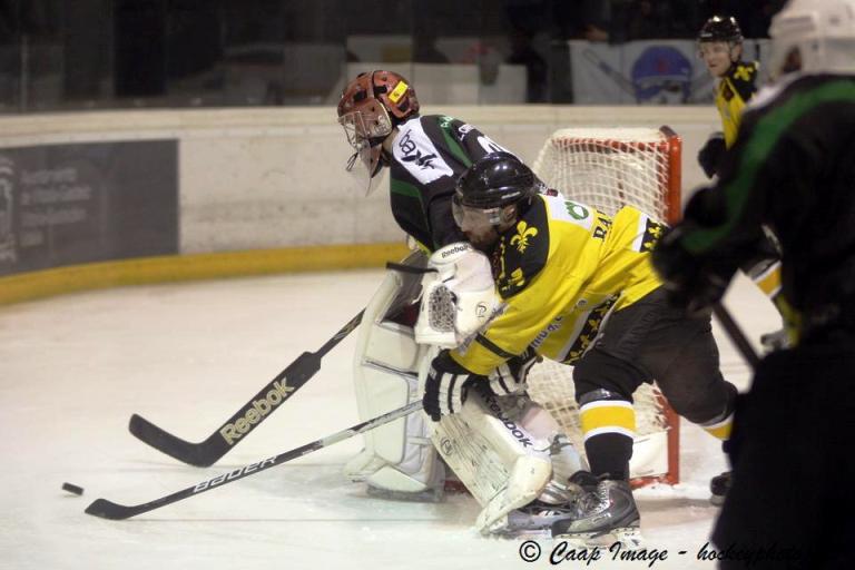
M789 0L769 36L773 77L855 72L855 0Z

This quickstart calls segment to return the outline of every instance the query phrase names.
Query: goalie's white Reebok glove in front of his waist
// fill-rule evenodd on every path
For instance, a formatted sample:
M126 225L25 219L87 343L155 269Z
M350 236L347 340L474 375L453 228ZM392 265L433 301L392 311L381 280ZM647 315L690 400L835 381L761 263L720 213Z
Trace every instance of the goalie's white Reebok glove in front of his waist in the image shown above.
M415 325L419 344L460 346L482 328L500 307L490 261L460 242L438 249L428 261L424 294Z

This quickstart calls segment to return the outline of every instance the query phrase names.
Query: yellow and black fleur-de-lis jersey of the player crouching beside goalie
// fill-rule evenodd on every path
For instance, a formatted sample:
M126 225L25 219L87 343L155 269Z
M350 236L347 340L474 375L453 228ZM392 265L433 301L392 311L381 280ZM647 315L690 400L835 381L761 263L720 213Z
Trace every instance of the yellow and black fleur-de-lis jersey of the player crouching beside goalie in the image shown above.
M489 374L531 345L572 364L609 311L661 285L649 252L664 229L632 207L612 218L560 196L535 196L493 252L504 311L451 356L470 372Z

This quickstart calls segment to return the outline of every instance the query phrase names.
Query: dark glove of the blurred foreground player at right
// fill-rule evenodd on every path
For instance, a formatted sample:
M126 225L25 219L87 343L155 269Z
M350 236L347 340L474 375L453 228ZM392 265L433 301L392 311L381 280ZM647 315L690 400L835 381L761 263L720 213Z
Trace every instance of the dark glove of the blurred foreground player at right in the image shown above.
M668 229L651 253L653 268L664 282L671 305L689 315L707 312L727 291L733 271L714 268L687 252L680 227Z

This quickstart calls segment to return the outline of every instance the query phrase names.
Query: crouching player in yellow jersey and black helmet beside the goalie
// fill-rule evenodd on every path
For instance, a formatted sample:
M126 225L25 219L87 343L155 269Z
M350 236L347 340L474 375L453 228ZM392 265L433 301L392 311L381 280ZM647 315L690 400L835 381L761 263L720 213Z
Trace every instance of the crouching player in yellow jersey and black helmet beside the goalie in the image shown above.
M587 492L567 505L552 534L633 540L635 390L657 380L677 413L721 439L736 396L718 368L709 313L689 318L668 304L650 265L664 226L631 207L609 217L544 194L532 171L505 153L463 174L453 213L466 238L491 257L503 311L468 346L434 358L426 413L439 421L460 411L469 389L502 366L511 373L502 386L491 382L493 391L520 389L532 352L573 364L591 471L571 478Z

